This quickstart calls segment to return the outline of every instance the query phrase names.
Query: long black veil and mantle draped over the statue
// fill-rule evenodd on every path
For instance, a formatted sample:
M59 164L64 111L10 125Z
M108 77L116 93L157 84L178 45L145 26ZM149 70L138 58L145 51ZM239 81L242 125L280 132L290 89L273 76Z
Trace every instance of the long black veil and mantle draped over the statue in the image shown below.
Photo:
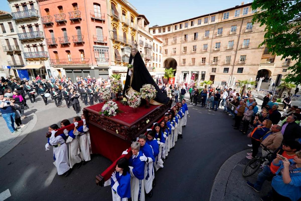
M145 64L141 57L141 54L139 52L137 52L135 57L133 57L131 54L130 58L129 58L129 64L132 63L133 58L134 58L134 63L133 63L133 71L134 72L133 72L131 87L135 91L139 92L140 88L142 88L142 86L144 84L154 85L154 87L157 90L157 96L154 100L159 103L162 103L162 104L167 104L170 99L163 94L163 92L160 90L159 86L155 83L151 74L148 72L147 68L145 67ZM129 76L129 69L128 69L128 71L126 73L126 82L124 84L124 89L123 89L123 96L125 95L126 90L128 90L130 87L129 86L130 79L131 79L131 76Z

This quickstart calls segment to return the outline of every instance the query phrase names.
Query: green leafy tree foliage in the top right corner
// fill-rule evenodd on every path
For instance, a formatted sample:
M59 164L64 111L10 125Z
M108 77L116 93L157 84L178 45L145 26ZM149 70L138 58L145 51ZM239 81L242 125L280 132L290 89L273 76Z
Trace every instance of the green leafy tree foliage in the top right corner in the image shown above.
M285 80L301 84L301 0L254 0L252 10L260 10L254 14L252 22L265 26L264 41L269 52L281 59L291 58L296 64L288 67Z

